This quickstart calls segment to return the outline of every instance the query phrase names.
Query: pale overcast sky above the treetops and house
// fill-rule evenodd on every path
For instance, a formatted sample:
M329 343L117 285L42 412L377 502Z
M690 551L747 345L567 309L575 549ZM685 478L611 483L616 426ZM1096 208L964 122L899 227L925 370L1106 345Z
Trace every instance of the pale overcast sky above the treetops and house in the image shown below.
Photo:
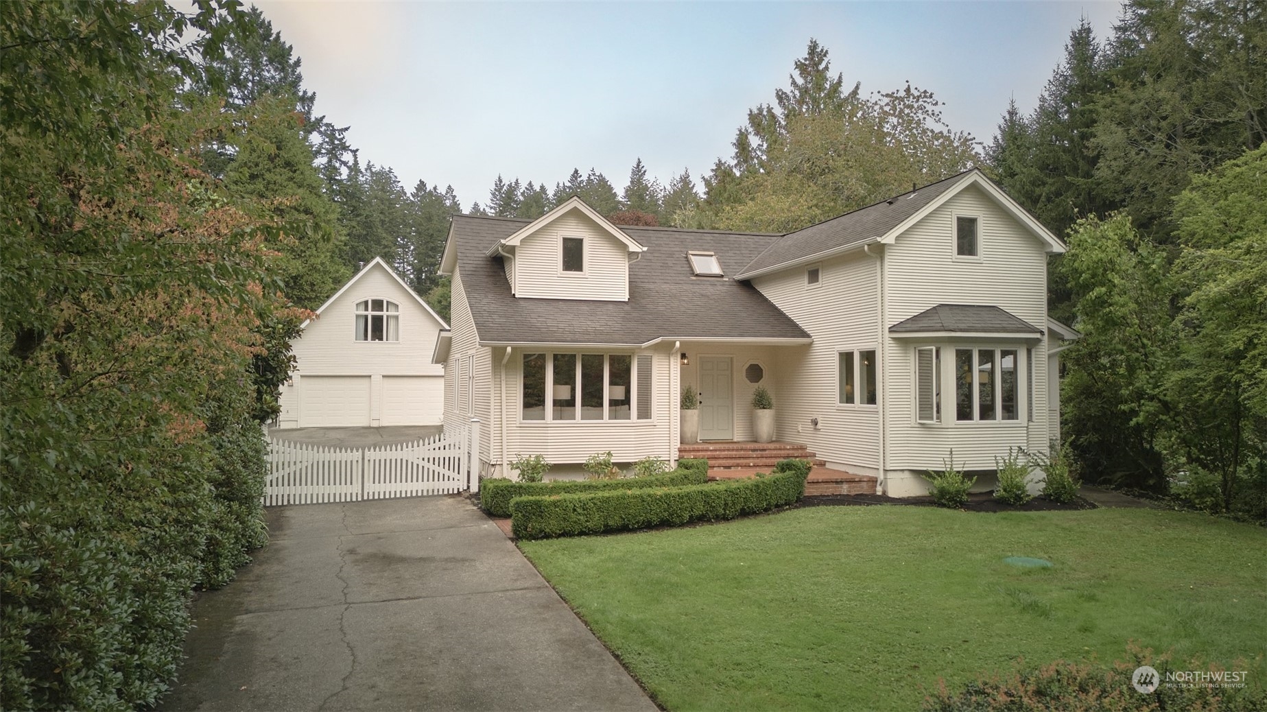
M988 142L1007 100L1033 109L1081 16L1117 1L834 4L257 4L303 58L317 113L361 161L452 185L462 209L498 174L554 186L597 167L617 191L641 157L668 182L731 155L817 38L863 92L910 80L952 128Z

